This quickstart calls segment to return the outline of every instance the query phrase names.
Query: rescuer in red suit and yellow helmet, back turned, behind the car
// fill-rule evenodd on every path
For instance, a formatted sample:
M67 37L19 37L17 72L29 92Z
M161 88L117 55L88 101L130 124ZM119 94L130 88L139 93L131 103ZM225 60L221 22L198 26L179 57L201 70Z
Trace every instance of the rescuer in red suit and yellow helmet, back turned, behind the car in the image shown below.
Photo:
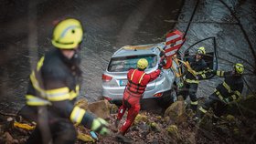
M128 83L123 92L123 105L118 110L117 120L115 122L115 126L118 127L120 120L123 118L125 110L128 109L126 121L118 132L118 134L122 136L124 136L126 131L133 124L134 118L136 118L140 111L140 100L143 98L146 85L160 75L160 69L163 67L163 63L161 62L158 65L158 69L149 74L144 72L144 69L147 66L147 60L145 58L141 58L137 61L137 68L131 68L128 71Z

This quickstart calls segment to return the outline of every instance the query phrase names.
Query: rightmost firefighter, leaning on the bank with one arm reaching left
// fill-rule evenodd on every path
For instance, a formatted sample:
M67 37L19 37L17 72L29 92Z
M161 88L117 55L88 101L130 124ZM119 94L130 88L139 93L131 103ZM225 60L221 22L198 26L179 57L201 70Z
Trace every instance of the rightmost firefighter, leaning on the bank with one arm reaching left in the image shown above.
M213 122L217 122L218 118L225 112L229 102L238 100L241 98L241 92L243 89L242 73L244 67L242 64L237 63L233 66L232 71L212 71L219 77L224 77L224 81L214 89L214 93L211 94L201 108L198 109L196 120L203 118L209 108L213 108L214 117Z

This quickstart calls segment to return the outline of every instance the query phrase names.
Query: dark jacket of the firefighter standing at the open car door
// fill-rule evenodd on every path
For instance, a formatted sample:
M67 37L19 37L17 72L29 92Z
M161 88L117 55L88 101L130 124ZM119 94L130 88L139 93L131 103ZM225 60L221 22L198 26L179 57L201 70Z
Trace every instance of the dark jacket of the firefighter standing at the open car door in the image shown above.
M198 84L200 79L207 78L209 68L204 59L201 58L197 61L196 57L189 57L187 61L191 67L185 76L187 83Z

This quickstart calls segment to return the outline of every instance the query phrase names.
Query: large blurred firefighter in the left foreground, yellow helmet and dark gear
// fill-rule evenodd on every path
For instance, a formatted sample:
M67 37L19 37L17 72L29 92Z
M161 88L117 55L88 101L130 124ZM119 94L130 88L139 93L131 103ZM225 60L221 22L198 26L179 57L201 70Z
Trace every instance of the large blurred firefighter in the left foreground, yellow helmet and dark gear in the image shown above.
M53 30L55 47L37 62L27 89L27 106L20 110L23 118L36 121L37 127L27 139L35 143L75 143L74 123L101 135L109 133L108 123L85 109L74 106L80 92L80 44L83 29L80 21L68 18Z

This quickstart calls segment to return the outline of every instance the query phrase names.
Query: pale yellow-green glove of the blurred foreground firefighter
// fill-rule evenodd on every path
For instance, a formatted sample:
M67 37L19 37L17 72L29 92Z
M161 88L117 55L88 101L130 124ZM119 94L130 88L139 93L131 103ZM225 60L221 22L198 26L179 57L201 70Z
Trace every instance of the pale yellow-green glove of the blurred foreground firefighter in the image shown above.
M94 118L91 125L91 130L100 133L102 136L110 134L108 122L102 118Z

